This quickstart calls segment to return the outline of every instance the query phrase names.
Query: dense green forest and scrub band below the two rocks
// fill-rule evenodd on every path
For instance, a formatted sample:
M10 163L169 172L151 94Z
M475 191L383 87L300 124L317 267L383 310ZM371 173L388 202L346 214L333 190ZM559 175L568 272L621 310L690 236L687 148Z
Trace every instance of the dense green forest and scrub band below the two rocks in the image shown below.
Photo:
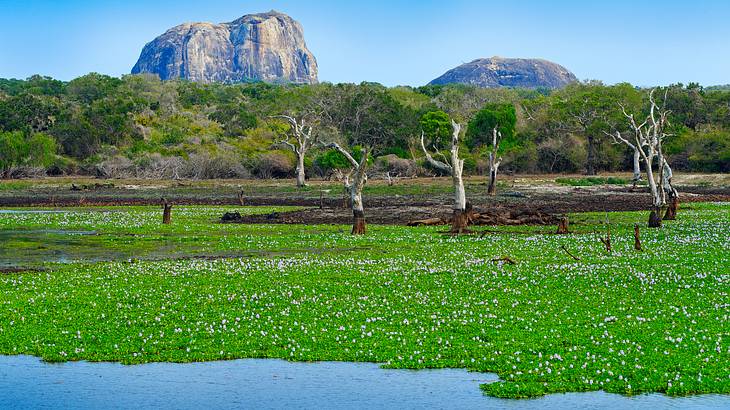
M730 91L680 84L657 92L664 94L672 117L666 147L672 166L730 171ZM514 107L516 128L505 130L502 169L595 174L631 168L631 153L605 134L627 131L619 103L641 113L646 90L596 82L556 91L372 83L203 85L93 73L70 82L0 79L0 173L288 177L294 174L294 154L276 143L289 126L272 118L288 114L312 117L320 140L378 145L372 154L383 159L376 161L376 170L428 174L435 171L414 148L424 115L442 111L478 128L490 118L477 115L480 110L506 104ZM462 149L467 173L485 173L480 139L485 135L467 130L470 138ZM348 163L318 145L305 166L308 175L327 176Z

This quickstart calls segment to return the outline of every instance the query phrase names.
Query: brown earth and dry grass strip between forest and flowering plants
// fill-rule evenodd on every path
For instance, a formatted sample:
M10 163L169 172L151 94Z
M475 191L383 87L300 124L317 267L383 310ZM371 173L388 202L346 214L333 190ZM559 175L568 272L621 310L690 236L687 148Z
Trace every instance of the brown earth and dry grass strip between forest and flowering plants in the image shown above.
M626 177L623 174L617 176ZM483 224L553 224L572 212L649 210L647 187L623 185L573 187L557 184L558 176L505 176L496 197L486 194L487 181L466 181L467 198ZM689 202L730 201L730 181L725 174L676 176L681 207ZM336 181L309 181L297 190L291 180L249 181L144 181L144 180L19 180L25 187L0 189L0 207L67 207L160 205L166 198L175 205L305 206L310 209L273 215L251 215L240 223L350 224L342 187ZM369 223L405 225L421 219L452 216L448 178L368 182L364 193L365 218Z

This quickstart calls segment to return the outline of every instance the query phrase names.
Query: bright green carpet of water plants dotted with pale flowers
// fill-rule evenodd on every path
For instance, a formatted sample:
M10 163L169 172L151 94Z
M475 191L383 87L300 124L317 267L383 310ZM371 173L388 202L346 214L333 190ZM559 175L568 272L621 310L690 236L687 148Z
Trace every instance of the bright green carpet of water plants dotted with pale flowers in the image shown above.
M646 214L612 213L612 254L592 233L603 213L571 215L569 236L370 226L353 237L344 226L211 223L230 208L176 207L171 226L156 207L0 214L0 230L95 230L79 240L110 248L166 236L254 255L0 274L0 353L467 368L497 373L484 392L510 398L730 393L730 204L692 204L642 229L643 252L633 224ZM491 262L501 256L518 263Z

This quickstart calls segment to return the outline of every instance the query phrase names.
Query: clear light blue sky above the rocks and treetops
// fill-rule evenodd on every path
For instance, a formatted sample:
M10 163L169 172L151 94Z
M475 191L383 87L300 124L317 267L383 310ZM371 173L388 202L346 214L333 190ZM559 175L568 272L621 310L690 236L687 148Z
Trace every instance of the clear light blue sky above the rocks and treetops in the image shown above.
M302 23L320 81L419 86L502 56L607 84L730 83L727 0L0 0L0 78L121 76L170 27L272 9Z

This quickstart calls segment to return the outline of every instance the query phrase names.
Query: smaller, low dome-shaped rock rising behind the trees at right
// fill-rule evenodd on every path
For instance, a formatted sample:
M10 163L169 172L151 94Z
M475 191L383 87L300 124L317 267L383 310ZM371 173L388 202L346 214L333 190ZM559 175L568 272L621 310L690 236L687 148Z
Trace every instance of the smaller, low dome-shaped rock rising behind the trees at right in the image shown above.
M492 57L462 64L429 84L461 83L485 88L560 88L577 80L565 67L550 61Z

